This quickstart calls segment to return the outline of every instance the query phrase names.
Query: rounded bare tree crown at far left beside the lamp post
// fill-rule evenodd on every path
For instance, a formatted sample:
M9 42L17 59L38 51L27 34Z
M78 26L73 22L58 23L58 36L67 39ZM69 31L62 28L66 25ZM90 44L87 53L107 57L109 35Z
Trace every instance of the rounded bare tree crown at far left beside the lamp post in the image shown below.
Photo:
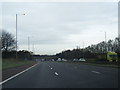
M3 30L1 40L2 40L2 51L8 52L15 49L16 41L11 33Z

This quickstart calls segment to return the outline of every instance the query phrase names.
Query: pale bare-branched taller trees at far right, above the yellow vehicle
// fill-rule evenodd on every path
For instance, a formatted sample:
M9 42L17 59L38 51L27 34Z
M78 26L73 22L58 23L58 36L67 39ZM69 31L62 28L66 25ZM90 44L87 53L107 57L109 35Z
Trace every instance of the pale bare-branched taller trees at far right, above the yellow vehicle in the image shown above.
M108 40L108 42L102 41L96 45L91 45L85 48L85 50L91 53L106 53L106 51L120 52L120 38L114 40Z

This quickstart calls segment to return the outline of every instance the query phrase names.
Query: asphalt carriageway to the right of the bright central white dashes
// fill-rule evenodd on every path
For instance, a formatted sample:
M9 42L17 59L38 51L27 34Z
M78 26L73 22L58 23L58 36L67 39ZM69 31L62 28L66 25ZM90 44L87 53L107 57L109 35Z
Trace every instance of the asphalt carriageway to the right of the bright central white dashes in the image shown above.
M52 64L53 65L53 64ZM52 66L51 65L51 66ZM61 73L65 81L72 81L70 87L81 87L81 88L115 88L118 87L118 69L108 67L98 67L90 65L79 65L79 64L66 64L64 69L61 68L61 64L54 64L59 73ZM77 67L76 69L74 67ZM99 74L91 73L91 71L100 72ZM66 85L67 86L67 85Z

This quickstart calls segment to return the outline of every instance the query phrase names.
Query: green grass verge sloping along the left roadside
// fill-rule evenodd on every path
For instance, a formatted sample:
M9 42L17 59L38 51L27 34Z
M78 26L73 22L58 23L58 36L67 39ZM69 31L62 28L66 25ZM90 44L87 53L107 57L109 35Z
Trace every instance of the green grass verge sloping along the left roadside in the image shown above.
M12 67L22 66L22 65L25 65L25 64L32 64L32 63L35 63L35 61L3 59L2 60L2 70L12 68Z

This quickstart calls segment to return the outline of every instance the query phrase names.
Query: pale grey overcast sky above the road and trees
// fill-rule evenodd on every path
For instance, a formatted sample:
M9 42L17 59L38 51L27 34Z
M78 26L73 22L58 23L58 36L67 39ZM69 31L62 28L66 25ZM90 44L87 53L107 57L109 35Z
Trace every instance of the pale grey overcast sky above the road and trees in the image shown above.
M15 35L18 16L18 46L39 54L97 44L118 36L117 2L3 3L2 28Z

